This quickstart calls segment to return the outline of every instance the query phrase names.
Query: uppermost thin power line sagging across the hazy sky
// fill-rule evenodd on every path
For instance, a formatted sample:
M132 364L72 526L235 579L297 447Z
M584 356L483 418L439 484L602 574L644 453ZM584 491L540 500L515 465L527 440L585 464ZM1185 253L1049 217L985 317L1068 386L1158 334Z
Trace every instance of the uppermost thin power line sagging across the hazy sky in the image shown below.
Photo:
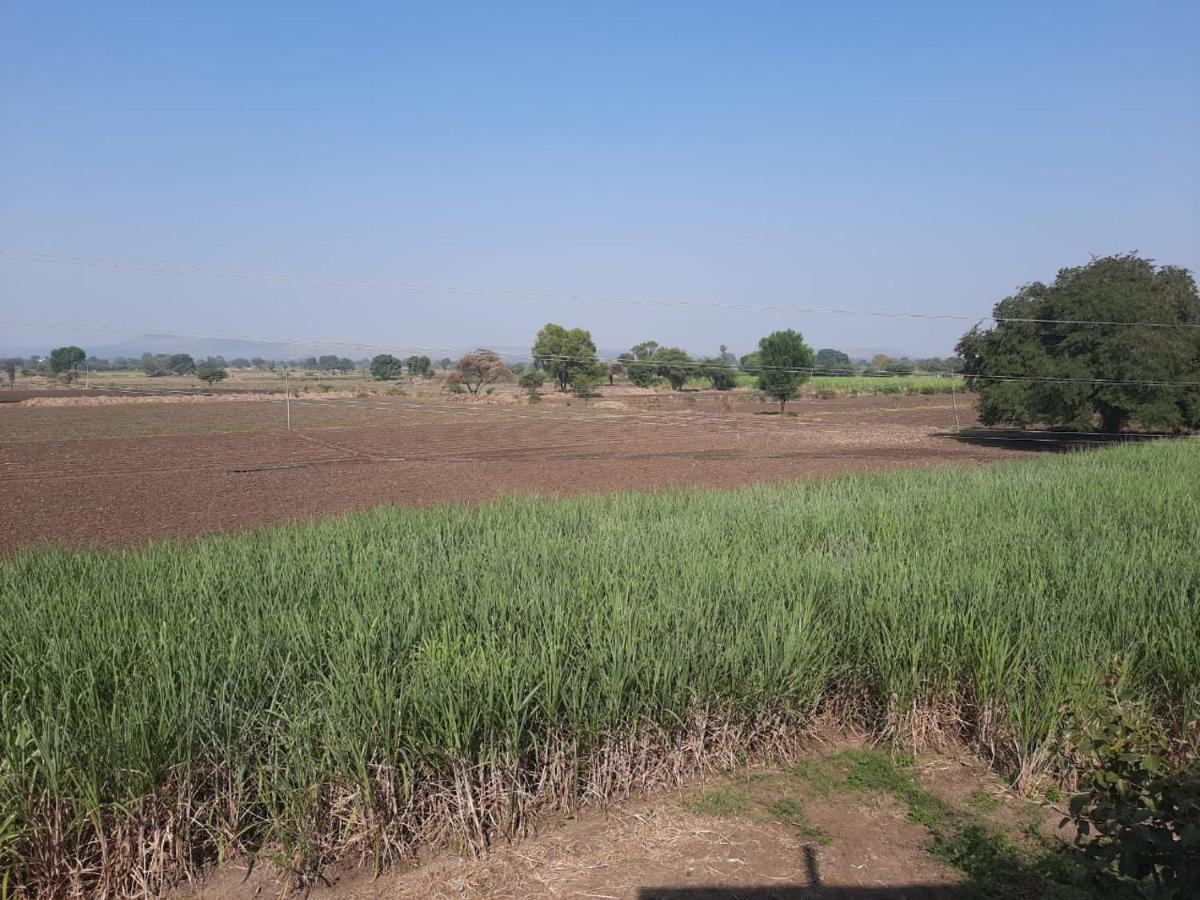
M696 300L665 300L658 298L612 296L605 294L572 294L548 290L520 290L514 288L480 288L461 284L430 284L421 282L360 280L329 277L320 275L296 275L287 272L269 272L245 269L224 269L215 265L193 265L179 263L155 263L120 257L61 256L35 251L0 247L0 257L37 263L59 263L65 265L88 265L115 269L136 269L140 271L167 272L175 275L203 275L228 278L246 278L275 281L296 284L316 284L322 287L349 287L383 290L406 290L415 293L449 293L472 296L500 296L512 300L539 300L558 302L617 304L630 306L661 306L685 310L737 310L740 312L786 312L805 316L860 316L884 319L918 319L949 322L1010 322L1039 325L1079 325L1079 326L1132 326L1132 328L1200 328L1200 322L1122 322L1096 319L1042 319L1018 316L974 316L964 313L895 312L889 310L848 310L836 307L782 306L774 304L733 304Z

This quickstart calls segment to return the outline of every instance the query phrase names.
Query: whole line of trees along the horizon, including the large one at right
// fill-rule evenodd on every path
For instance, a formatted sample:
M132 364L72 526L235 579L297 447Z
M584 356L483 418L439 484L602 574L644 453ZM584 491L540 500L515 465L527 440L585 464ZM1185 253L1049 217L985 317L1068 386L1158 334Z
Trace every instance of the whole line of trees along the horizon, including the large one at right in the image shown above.
M264 359L186 353L143 354L97 360L79 347L55 348L48 358L0 361L10 385L17 372L72 380L82 367L140 368L146 374L192 374L222 380L228 367L274 368L295 365L312 372L366 370L389 380L406 374L444 374L448 390L478 394L498 382L517 379L535 398L546 382L559 391L589 396L605 379L620 377L640 386L668 384L682 390L704 379L731 390L739 377L752 377L758 390L782 410L810 372L822 374L959 374L979 395L984 425L1049 425L1073 431L1117 433L1129 427L1183 431L1200 427L1200 294L1193 274L1159 266L1136 253L1102 257L1062 269L1050 284L1032 282L992 310L990 326L977 325L959 341L955 356L852 360L823 348L814 352L798 331L774 331L743 356L725 346L713 356L694 359L679 347L642 341L616 360L601 361L590 332L548 323L530 348L532 362L505 362L496 352L478 349L457 361L428 356L404 359L379 354L353 361L325 355L292 364Z

